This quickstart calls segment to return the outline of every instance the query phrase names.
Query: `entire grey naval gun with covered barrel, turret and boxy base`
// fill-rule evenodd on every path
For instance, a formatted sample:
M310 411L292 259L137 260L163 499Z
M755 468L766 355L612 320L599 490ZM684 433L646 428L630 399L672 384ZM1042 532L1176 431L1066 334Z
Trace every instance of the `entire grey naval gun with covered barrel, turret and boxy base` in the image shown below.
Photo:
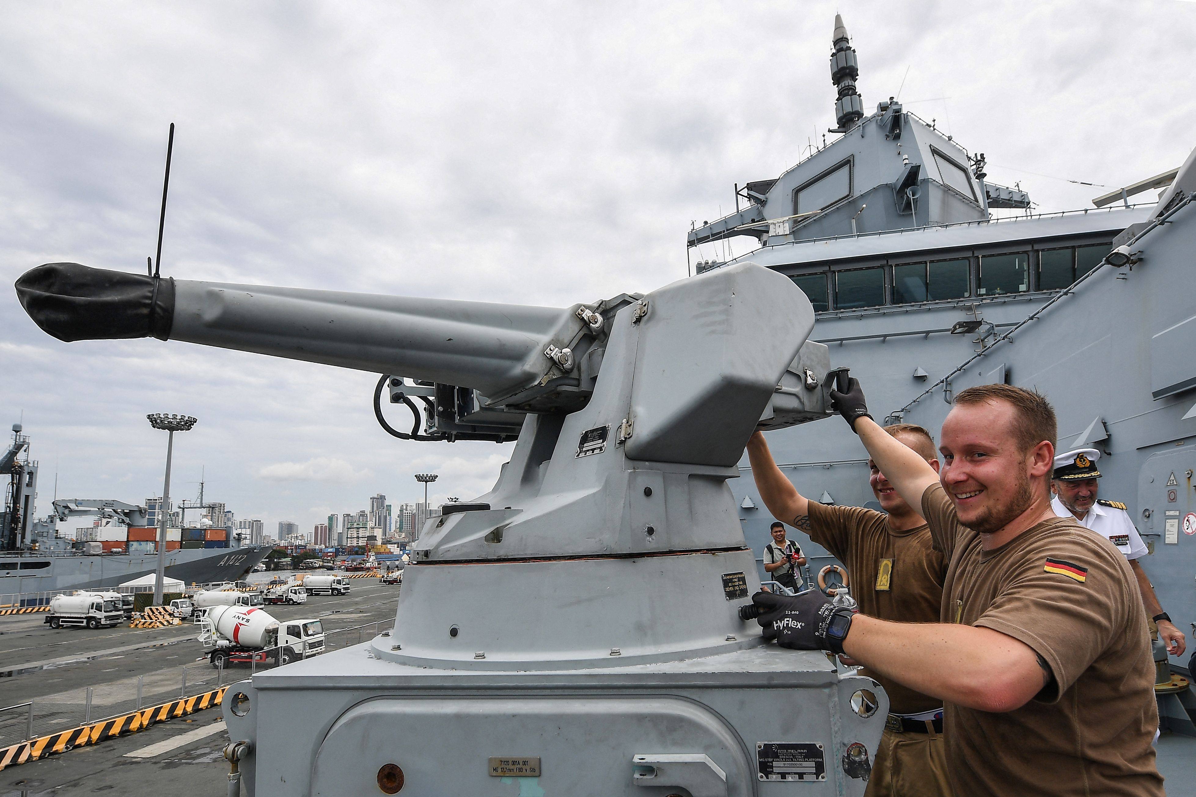
M393 631L231 687L255 793L862 793L883 691L738 617L759 578L726 482L753 429L829 413L788 277L743 263L566 308L62 263L17 290L63 341L370 370L432 391L422 437L518 435L490 492L425 525Z

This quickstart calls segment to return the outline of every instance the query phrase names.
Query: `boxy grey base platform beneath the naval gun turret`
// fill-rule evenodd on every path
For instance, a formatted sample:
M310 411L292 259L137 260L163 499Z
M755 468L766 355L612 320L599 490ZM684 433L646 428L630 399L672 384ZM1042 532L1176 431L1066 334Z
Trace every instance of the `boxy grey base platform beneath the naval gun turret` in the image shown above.
M462 672L388 662L383 636L236 683L225 705L242 692L250 710L225 715L231 738L260 740L243 764L260 797L379 795L388 764L403 797L862 795L843 756L875 750L884 692L824 654L748 644L661 664ZM877 695L871 718L850 707L860 689ZM258 732L258 717L286 732ZM538 774L495 774L494 759ZM763 779L762 762L787 779Z

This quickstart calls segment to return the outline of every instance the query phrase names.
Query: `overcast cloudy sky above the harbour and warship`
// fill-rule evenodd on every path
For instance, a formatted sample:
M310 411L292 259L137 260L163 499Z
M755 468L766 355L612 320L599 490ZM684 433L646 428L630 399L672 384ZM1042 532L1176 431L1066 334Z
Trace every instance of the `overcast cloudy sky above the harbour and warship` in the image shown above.
M0 277L140 271L177 124L163 272L532 305L687 274L692 221L777 176L831 115L835 12L865 108L907 109L1041 210L1196 146L1196 2L196 2L0 0ZM732 253L743 253L743 243ZM713 247L694 255L721 256ZM158 341L65 344L0 290L0 422L24 413L41 510L172 492L268 529L484 492L490 443L403 443L377 375Z

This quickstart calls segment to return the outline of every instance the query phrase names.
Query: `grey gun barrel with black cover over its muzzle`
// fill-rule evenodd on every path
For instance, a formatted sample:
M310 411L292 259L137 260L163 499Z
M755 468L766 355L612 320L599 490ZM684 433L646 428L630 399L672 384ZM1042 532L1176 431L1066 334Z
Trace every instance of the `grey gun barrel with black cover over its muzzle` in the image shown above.
M17 281L60 341L158 337L472 387L493 396L543 374L569 311L150 276L50 263ZM538 368L538 370L537 370Z

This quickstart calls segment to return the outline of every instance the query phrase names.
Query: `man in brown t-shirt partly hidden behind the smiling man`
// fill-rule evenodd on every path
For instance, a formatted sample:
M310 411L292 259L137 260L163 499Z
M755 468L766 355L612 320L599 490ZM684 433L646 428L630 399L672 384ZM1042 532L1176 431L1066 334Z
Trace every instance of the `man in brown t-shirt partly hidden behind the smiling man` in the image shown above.
M921 454L939 461L922 427L885 429ZM885 511L824 507L806 499L773 460L762 433L748 442L752 476L775 517L801 529L847 565L860 612L901 623L936 623L942 603L946 560L935 551L926 521L869 462L869 484ZM889 719L873 761L866 797L951 795L942 742L942 700L864 669L889 694Z

